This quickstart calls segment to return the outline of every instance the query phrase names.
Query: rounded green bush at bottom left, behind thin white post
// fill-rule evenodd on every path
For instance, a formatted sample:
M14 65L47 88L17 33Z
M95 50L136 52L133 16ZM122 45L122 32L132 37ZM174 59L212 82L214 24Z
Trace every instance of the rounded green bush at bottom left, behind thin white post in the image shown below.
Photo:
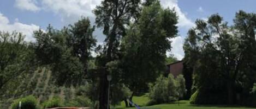
M21 108L35 109L37 108L37 99L32 95L25 98L17 99L11 104L11 109L19 109L19 102L21 101Z

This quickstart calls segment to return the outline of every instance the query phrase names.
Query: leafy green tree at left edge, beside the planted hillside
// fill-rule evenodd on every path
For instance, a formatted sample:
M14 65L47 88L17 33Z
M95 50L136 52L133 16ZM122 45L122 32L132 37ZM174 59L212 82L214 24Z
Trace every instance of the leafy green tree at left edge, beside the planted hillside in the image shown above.
M33 49L24 38L16 31L0 31L0 95L15 94L16 87L34 69Z

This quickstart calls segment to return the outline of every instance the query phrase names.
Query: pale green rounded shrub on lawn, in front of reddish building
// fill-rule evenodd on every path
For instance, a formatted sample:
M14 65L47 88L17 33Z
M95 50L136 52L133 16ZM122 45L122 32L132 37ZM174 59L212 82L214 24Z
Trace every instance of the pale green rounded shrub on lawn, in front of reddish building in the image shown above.
M161 75L154 84L150 84L148 105L176 101L186 94L185 81L182 75L174 79L172 74L168 77Z

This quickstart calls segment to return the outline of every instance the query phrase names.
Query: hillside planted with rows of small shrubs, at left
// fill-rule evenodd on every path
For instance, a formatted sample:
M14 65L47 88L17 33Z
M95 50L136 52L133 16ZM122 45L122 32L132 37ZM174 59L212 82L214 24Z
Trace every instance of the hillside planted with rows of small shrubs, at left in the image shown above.
M74 99L75 88L57 87L53 84L51 71L47 68L38 68L33 74L27 74L26 79L16 88L15 95L5 95L0 101L1 108L8 108L13 100L22 98L27 95L34 95L38 98L38 105L45 100L52 99L54 96L59 96L63 100ZM18 93L22 92L22 93Z

